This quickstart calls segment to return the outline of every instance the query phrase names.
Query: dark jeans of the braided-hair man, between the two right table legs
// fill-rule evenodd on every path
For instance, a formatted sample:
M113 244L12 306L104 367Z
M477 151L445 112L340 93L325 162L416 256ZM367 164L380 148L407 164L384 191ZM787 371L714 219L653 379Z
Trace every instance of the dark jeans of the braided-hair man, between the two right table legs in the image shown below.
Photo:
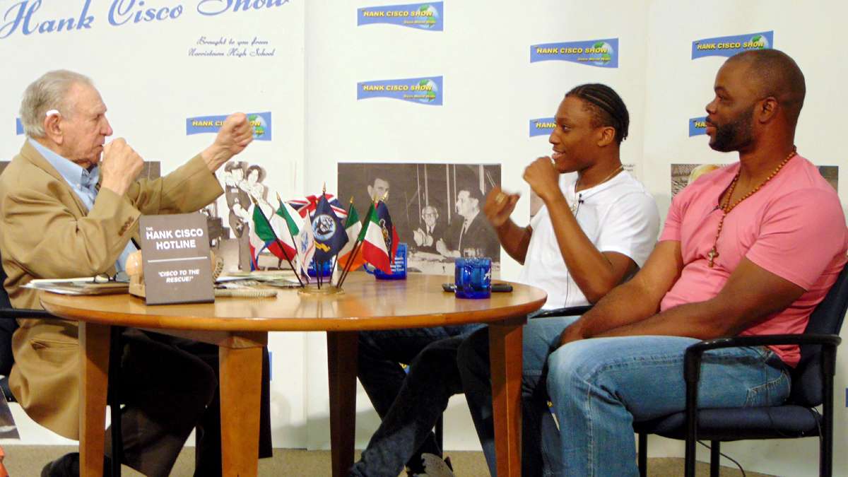
M461 391L456 349L482 324L360 333L359 378L382 418L350 475L397 477L408 463L422 473L421 453L442 455L432 428ZM408 373L399 363L409 364Z

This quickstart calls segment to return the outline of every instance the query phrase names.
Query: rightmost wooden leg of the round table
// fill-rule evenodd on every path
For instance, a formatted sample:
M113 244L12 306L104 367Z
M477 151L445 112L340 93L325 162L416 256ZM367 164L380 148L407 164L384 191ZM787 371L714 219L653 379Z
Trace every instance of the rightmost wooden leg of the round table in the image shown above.
M524 320L526 321L526 320ZM494 445L499 477L522 474L522 325L490 324Z

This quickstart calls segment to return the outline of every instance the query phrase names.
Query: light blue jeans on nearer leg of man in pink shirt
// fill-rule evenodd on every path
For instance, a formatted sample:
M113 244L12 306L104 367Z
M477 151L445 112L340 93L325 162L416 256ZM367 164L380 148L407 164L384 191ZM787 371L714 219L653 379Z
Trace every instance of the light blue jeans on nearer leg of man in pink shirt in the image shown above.
M560 423L562 474L639 475L633 422L685 408L683 353L698 340L628 336L581 340L548 360L547 388ZM699 407L774 406L789 374L764 347L707 351Z

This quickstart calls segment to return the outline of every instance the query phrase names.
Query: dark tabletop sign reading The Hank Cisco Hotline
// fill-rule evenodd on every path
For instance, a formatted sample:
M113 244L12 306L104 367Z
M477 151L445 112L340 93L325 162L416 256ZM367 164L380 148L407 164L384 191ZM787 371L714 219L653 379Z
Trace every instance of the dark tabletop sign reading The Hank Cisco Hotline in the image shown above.
M206 216L142 216L138 227L148 305L215 301Z

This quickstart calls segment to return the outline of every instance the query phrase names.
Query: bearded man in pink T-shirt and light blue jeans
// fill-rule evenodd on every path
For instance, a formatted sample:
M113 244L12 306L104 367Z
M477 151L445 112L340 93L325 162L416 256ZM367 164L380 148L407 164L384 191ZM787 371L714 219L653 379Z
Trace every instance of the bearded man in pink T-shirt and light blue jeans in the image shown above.
M639 475L633 422L685 408L683 356L700 340L801 334L845 266L840 200L795 151L806 92L795 61L754 50L718 70L706 105L710 147L739 162L675 196L644 267L560 329L528 325L527 348L550 348L546 389L561 428L557 474ZM811 246L811 244L814 244ZM564 328L564 329L563 329ZM465 353L464 351L470 351ZM789 396L795 345L707 351L700 407L776 406ZM460 350L463 384L483 386L479 353Z

